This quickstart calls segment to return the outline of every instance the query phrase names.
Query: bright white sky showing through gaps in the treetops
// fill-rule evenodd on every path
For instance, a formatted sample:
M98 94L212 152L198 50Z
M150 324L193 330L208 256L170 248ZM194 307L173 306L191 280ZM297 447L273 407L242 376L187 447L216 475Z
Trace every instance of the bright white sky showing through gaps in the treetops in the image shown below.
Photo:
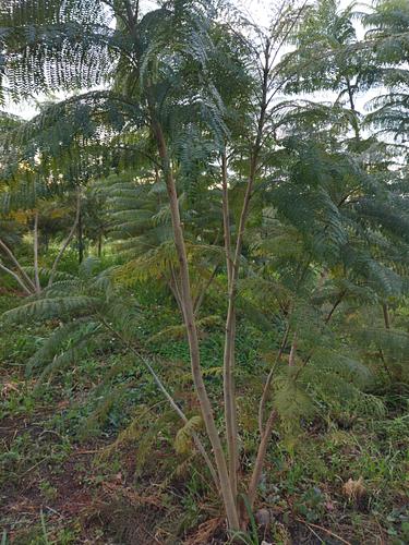
M243 11L243 13L251 20L254 21L260 26L267 26L270 21L270 15L273 12L274 5L276 5L280 0L234 0L237 5ZM340 0L340 8L346 8L351 3L351 0ZM144 11L148 11L149 9L154 9L156 4L155 0L143 0L142 2ZM358 33L360 34L360 28L358 28ZM373 94L371 94L373 96ZM44 97L38 97L38 100L41 100ZM63 98L61 94L60 97ZM316 99L323 100L323 96L316 96ZM326 97L330 99L329 96ZM363 107L363 104L371 98L370 96L361 97L358 100L358 107ZM23 118L29 119L36 113L36 106L34 102L21 102L16 104L8 104L5 107L7 111L11 113L15 113Z

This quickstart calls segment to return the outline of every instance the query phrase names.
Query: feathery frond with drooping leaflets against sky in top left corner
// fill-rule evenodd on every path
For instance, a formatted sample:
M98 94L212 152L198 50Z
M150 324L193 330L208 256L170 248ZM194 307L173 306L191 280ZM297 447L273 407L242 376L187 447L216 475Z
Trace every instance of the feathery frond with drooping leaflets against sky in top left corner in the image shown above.
M101 84L115 62L115 49L127 47L108 25L99 0L3 3L4 73L12 96Z

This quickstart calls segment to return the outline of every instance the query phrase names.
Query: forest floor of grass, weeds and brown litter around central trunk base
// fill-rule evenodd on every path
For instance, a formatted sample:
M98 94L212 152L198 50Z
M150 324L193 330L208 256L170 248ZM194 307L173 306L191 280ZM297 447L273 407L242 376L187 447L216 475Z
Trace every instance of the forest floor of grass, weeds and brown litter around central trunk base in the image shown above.
M0 311L13 299L0 294ZM76 364L33 393L25 362L44 335L36 325L0 332L2 545L229 543L201 463L175 453L175 420L159 412L161 400L149 386L141 403L157 405L153 432L127 432L118 443L129 414L111 407L91 436L79 432L100 367L121 354ZM133 395L142 396L141 389ZM386 407L377 420L310 424L291 448L275 437L256 520L243 543L408 543L407 400L389 396Z

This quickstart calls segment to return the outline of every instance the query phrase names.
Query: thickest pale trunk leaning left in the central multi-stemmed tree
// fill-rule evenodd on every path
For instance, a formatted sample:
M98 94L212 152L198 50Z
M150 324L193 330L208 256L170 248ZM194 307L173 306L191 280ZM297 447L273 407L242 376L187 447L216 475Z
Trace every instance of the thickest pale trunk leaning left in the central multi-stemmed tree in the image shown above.
M220 491L225 504L226 516L230 530L239 529L239 517L236 508L234 497L230 487L229 475L227 471L226 458L221 447L220 437L216 427L210 400L208 398L206 387L203 380L199 338L196 323L193 311L193 300L190 288L189 267L187 251L183 238L183 230L179 213L178 195L173 173L168 157L167 145L160 124L154 119L152 121L153 132L157 142L159 157L163 162L164 175L170 204L170 213L172 218L175 245L180 264L181 294L183 304L183 317L188 331L190 358L192 375L197 392L197 398L201 404L202 416L206 426L207 435L213 447L218 477L220 481Z

